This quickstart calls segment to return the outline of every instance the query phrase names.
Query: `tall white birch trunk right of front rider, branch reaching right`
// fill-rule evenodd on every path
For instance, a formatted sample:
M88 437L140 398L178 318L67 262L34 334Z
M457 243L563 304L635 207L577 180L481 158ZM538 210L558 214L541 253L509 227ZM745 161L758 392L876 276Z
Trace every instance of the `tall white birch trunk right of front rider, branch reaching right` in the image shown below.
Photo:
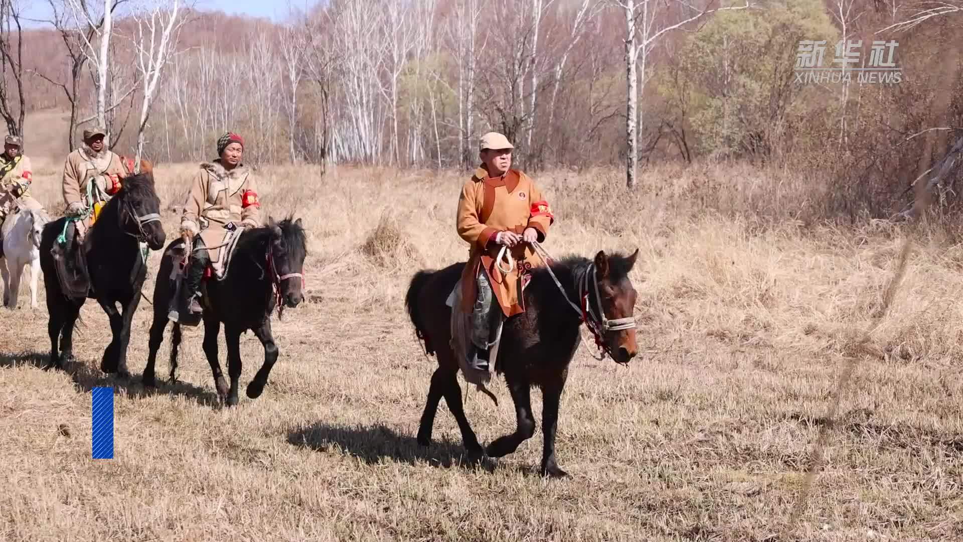
M628 144L625 184L629 188L636 185L636 169L638 166L638 121L640 119L638 111L638 95L641 89L638 88L638 63L641 62L642 85L646 82L646 64L648 54L652 51L656 42L667 32L682 28L707 14L716 13L722 10L744 10L749 7L748 0L742 6L728 6L725 8L695 10L690 3L683 0L675 0L677 5L681 5L695 11L696 13L680 20L674 24L668 24L662 28L656 24L660 8L668 6L668 2L657 2L656 0L612 0L612 2L622 9L625 14L625 67L627 97L625 108L625 139ZM710 0L708 5L713 5L716 0ZM641 24L639 24L639 22Z

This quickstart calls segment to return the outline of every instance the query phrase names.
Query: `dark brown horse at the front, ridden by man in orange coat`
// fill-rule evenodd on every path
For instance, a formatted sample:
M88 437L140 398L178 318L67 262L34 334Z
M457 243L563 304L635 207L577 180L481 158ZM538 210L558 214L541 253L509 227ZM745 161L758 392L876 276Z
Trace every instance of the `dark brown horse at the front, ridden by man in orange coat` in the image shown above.
M638 250L629 257L599 252L594 260L566 257L532 271L532 281L523 294L525 312L505 320L495 362L496 373L505 375L518 427L514 433L488 445L485 453L489 457L511 453L534 435L529 392L538 386L542 390L545 436L541 474L567 475L556 461L555 434L559 399L569 363L579 346L580 327L585 323L595 335L596 344L614 361L628 364L636 356L636 290L629 280L636 257ZM425 341L426 351L438 357L418 429L418 443L428 446L431 442L438 401L445 397L461 429L462 444L470 456L478 457L481 446L461 404L456 379L458 363L449 345L451 309L445 304L464 265L460 262L441 270L418 271L411 279L404 302L416 335Z

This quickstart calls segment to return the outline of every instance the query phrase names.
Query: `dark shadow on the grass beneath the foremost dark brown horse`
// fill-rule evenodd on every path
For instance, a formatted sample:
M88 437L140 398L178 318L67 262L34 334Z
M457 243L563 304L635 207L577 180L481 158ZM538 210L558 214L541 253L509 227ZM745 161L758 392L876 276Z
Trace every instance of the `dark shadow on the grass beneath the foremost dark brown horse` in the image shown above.
M401 435L382 424L346 426L319 421L288 431L288 443L316 451L340 450L368 465L388 459L409 465L424 461L446 469L460 466L467 469L481 467L488 472L493 470L491 460L471 458L459 444L450 440L433 441L423 447L414 437Z

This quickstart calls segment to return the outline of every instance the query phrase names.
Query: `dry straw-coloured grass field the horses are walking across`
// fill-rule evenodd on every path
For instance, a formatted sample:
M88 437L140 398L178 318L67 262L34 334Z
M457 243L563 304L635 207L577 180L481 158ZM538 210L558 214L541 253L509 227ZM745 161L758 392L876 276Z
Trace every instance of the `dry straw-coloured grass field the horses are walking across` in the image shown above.
M61 163L35 167L35 190L55 214ZM169 235L193 168L157 170ZM415 270L467 256L454 226L463 177L258 175L265 210L293 212L310 230L307 300L274 318L280 358L260 398L216 404L200 328L185 328L181 382L146 393L137 380L146 302L131 382L99 371L109 327L94 302L66 372L39 368L46 310L41 301L31 312L25 283L20 307L0 311L0 539L963 539L963 246L954 236L913 237L892 306L861 343L907 226L751 218L765 204L792 217L813 180L791 172L665 166L631 194L616 171L539 174L557 214L545 243L553 256L640 249L639 356L627 368L597 362L583 343L560 410L559 461L572 477L544 480L540 430L503 459L463 464L444 402L432 446L415 443L435 361L414 337L403 293ZM156 269L158 254L150 258ZM148 298L152 289L151 276ZM242 356L246 386L263 359L252 334ZM824 463L795 517L849 362ZM116 389L114 460L91 460L94 386ZM515 424L501 380L492 389L500 406L474 390L465 406L483 445ZM533 403L540 413L540 393Z

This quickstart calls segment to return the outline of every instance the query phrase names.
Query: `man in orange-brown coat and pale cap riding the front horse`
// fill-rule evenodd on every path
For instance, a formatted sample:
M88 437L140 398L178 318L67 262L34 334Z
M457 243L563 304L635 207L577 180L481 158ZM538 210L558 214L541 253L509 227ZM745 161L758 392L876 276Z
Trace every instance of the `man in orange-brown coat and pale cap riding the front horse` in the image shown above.
M461 275L460 309L472 313L475 345L467 362L481 370L503 317L525 312L522 288L533 266L544 264L531 243L543 242L555 221L534 180L510 169L511 149L503 134L481 136L481 166L458 198L458 235L471 246Z

